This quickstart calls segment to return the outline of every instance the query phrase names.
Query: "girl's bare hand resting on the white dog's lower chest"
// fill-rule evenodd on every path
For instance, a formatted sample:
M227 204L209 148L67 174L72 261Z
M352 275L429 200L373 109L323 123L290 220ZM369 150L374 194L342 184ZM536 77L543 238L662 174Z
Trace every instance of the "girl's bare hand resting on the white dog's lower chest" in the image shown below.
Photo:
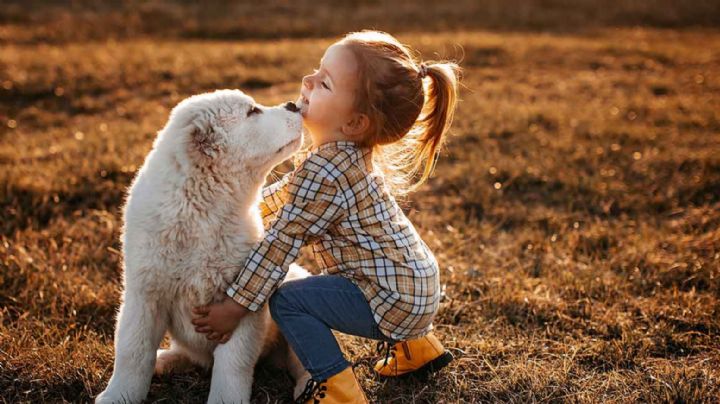
M225 343L240 320L249 312L250 310L225 296L221 302L195 307L192 323L195 331L207 334L207 339Z

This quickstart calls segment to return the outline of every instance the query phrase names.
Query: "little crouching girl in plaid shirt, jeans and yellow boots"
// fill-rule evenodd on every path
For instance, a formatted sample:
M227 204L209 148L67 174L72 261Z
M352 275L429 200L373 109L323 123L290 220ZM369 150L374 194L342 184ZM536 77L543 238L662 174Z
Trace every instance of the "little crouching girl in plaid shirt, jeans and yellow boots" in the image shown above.
M367 402L332 330L394 344L393 357L375 366L383 376L447 365L452 356L431 333L438 263L393 194L415 190L432 173L459 72L452 62L418 64L384 32L354 32L331 45L320 69L303 78L297 102L312 149L263 189L265 238L225 300L196 308L196 330L225 342L269 300L312 376L298 402ZM323 275L278 287L305 244Z

